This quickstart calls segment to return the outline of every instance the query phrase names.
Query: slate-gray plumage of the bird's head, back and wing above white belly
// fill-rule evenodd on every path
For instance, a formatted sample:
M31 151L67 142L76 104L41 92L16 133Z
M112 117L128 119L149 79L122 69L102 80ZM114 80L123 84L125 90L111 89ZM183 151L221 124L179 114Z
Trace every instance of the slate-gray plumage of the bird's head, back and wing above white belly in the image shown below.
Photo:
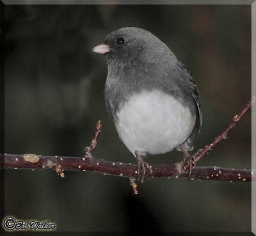
M124 38L124 45L116 45L120 37ZM118 29L104 43L111 48L104 90L109 117L115 122L116 112L132 94L159 89L177 98L195 115L195 127L184 142L188 151L193 149L202 126L202 112L198 89L184 64L161 40L143 29ZM176 149L180 150L179 146Z

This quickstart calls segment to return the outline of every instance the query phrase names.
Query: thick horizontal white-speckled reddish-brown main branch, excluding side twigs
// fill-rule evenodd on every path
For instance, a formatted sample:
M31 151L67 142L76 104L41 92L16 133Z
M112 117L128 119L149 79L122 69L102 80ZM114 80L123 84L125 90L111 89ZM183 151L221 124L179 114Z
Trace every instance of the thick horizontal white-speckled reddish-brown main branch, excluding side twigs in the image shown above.
M107 175L116 175L129 179L138 178L138 166L104 161L96 158L65 157L65 156L38 156L39 161L31 163L24 159L24 155L1 154L0 163L4 163L4 169L27 170L56 170L61 165L62 170L80 170L99 172ZM187 178L188 173L180 173L180 163L172 165L152 165L155 177ZM252 174L253 173L253 174ZM208 179L214 181L256 181L256 171L228 169L217 166L196 166L191 173L191 179ZM146 170L145 177L152 177Z

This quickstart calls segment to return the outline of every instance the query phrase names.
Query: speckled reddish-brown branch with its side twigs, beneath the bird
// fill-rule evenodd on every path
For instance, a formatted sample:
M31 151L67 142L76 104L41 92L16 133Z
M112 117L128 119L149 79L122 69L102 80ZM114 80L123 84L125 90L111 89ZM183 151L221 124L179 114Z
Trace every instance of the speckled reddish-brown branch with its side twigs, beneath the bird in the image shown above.
M206 145L204 149L197 151L193 156L193 161L198 162L207 152L211 151L216 144L221 140L227 138L227 133L234 128L235 124L248 112L256 101L256 96L246 105L242 112L234 116L234 119L227 128L210 144ZM93 135L92 143L89 147L84 149L84 157L64 157L64 156L37 156L35 154L0 154L0 169L29 169L29 170L56 170L56 172L64 177L64 170L81 170L99 172L104 175L116 175L120 177L129 178L131 181L134 193L138 193L136 189L135 179L138 178L138 166L131 163L121 163L113 161L104 161L92 157L95 150L99 134L101 132L100 121L97 123L96 131ZM189 164L186 164L189 168ZM189 172L181 170L180 163L172 165L152 165L152 172L155 177L175 177L188 178ZM191 180L205 179L214 181L236 181L236 182L250 182L256 181L256 170L241 170L228 169L217 166L194 166L191 173ZM145 177L152 177L151 173L146 170Z

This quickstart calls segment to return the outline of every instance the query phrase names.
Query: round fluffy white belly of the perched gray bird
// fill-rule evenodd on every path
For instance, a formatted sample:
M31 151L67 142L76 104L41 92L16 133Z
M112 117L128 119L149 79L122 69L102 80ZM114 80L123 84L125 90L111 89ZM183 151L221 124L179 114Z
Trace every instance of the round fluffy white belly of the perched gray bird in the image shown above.
M184 142L195 117L179 100L159 91L134 94L117 112L116 130L134 154L161 154Z

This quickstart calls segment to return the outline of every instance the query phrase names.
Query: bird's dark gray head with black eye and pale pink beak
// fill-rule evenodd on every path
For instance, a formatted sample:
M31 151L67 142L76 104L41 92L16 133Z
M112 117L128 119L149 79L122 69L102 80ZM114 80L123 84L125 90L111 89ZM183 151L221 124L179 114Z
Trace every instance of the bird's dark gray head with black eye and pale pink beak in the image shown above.
M155 61L157 57L163 59L172 54L154 34L137 27L124 27L109 33L104 43L93 48L93 52L106 54L108 64L120 65Z

